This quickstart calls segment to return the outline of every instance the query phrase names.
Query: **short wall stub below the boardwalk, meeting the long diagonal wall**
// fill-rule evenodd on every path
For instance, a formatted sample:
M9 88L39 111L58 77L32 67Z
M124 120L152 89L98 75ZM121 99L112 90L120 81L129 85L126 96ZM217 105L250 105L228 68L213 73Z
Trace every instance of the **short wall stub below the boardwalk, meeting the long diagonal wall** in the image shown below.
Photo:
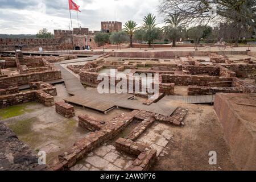
M79 126L86 130L101 130L104 124L104 121L98 121L97 119L90 117L89 115L79 115Z

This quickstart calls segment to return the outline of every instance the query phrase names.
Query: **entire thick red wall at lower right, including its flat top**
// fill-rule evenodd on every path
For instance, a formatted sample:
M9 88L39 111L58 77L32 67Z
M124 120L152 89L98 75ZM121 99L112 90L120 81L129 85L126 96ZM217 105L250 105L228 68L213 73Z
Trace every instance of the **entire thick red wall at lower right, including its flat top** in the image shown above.
M238 100L256 104L253 97L247 94L218 93L214 101L214 110L223 127L224 139L228 143L230 156L236 167L240 170L255 171L256 133L253 114L256 110L253 106L237 105Z

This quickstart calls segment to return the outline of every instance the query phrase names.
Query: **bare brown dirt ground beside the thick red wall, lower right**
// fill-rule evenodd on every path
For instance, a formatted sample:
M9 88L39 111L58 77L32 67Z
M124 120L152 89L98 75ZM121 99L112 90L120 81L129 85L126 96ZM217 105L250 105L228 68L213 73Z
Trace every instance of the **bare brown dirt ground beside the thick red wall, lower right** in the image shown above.
M174 137L167 144L170 150L159 157L152 170L236 170L213 106L178 105L189 109L185 126L172 127ZM217 165L209 165L210 151L217 152Z

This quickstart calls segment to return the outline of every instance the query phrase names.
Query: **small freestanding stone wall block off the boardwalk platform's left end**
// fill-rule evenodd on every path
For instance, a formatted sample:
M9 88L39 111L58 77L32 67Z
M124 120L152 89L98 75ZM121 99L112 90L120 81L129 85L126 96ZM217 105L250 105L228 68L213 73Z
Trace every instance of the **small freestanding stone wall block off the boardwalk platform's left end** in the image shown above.
M65 118L75 117L75 107L65 102L56 102L55 110L56 113L63 115Z

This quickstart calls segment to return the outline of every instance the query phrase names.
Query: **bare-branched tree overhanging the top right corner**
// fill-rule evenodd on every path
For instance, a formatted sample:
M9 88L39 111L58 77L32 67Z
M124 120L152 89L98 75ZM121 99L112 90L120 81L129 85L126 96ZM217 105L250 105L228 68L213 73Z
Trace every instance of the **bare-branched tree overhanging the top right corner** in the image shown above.
M255 0L160 0L162 14L179 13L195 24L228 23L236 29L235 43L256 28ZM232 36L232 35L230 35Z

